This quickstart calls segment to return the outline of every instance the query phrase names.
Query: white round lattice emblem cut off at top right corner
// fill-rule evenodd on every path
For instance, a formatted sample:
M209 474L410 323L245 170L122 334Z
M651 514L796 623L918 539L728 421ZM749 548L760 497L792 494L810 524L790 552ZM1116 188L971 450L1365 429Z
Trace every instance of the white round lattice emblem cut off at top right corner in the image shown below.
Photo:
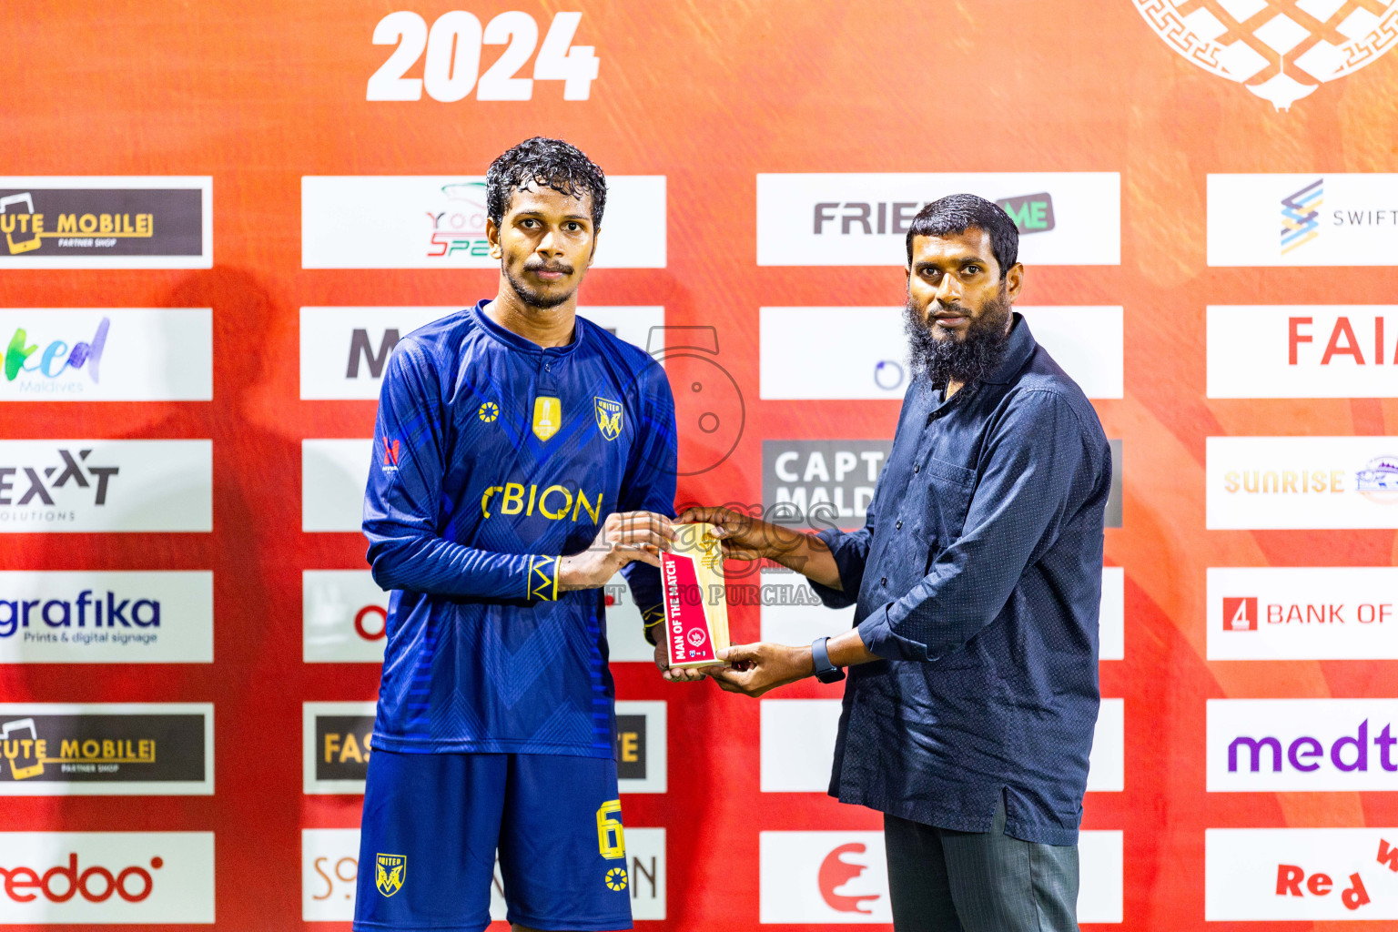
M1398 42L1391 0L1131 0L1190 63L1286 110Z

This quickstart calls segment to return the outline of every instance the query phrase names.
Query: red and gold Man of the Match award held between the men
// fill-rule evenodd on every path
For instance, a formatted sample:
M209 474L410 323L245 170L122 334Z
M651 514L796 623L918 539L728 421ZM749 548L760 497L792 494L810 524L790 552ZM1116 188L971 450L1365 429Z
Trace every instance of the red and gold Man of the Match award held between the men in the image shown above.
M660 555L670 665L721 664L719 651L728 647L723 546L712 524L677 524L674 530L674 549Z

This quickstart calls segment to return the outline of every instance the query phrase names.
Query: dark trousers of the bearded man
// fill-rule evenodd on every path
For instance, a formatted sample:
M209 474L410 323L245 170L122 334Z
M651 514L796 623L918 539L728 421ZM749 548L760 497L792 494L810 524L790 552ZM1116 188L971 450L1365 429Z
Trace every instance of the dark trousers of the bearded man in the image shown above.
M884 815L895 932L1076 932L1078 847Z

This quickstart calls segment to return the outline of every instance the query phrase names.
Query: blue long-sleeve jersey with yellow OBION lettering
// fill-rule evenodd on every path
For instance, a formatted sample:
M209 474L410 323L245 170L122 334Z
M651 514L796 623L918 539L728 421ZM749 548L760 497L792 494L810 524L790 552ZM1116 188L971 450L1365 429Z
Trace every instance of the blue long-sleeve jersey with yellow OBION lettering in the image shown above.
M401 340L379 395L363 532L393 595L373 746L611 757L603 591L558 591L558 559L614 511L674 514L670 383L583 317L544 349L485 303ZM624 573L658 611L657 570Z

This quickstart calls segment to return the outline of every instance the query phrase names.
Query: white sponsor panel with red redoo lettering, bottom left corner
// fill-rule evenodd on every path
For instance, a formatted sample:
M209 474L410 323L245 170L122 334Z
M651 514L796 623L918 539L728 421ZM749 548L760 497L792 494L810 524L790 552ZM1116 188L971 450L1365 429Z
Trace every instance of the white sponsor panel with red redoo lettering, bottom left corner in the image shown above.
M214 921L211 831L0 831L0 924Z

